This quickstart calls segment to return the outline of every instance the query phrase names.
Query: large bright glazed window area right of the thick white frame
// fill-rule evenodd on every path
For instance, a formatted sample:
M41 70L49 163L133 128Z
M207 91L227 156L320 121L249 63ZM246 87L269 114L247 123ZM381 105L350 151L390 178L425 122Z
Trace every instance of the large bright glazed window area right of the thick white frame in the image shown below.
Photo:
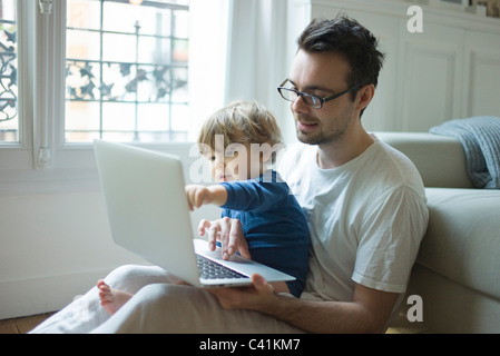
M68 142L187 139L188 10L188 0L68 0Z

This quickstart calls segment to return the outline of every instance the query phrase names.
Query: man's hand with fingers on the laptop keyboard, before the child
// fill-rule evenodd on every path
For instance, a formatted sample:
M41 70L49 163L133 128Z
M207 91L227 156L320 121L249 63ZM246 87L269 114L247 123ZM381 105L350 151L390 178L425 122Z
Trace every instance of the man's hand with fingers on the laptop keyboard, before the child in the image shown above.
M224 259L228 259L236 251L242 257L251 259L248 244L242 230L242 222L237 219L224 217L218 220L208 221L203 219L198 225L198 235L208 234L208 247L215 250L216 241L220 241L222 255Z

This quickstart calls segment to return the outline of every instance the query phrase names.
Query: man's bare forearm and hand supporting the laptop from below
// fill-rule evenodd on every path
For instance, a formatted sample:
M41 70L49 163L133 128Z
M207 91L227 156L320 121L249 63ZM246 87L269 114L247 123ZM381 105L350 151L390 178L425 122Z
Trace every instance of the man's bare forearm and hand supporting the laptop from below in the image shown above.
M399 294L356 284L352 301L312 301L281 296L261 276L254 287L210 290L226 309L251 309L310 333L382 333Z

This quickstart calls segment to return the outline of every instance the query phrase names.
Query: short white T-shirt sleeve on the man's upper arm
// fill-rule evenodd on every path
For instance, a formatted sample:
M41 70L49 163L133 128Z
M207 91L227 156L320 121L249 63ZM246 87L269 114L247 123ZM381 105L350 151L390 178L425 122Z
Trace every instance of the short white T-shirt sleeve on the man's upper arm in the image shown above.
M352 279L363 286L404 293L429 210L413 189L398 187L375 201L359 234Z

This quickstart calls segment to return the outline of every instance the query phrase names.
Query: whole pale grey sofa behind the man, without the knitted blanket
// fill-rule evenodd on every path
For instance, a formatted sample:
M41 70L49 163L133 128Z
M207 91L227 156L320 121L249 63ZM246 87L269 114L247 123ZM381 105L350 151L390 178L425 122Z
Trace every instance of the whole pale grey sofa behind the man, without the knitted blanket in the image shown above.
M500 333L500 190L473 188L454 138L375 135L415 164L427 187L429 227L408 291L422 297L424 329Z

